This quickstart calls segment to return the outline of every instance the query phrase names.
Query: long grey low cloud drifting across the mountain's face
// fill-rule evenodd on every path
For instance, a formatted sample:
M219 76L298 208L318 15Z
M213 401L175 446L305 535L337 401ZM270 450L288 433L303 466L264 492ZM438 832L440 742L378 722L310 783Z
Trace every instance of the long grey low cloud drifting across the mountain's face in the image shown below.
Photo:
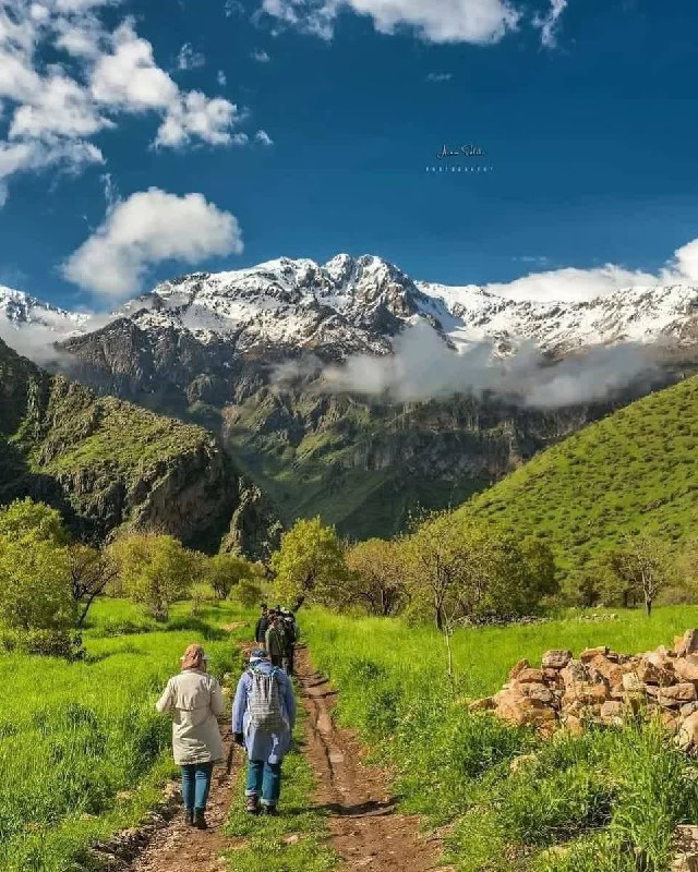
M537 409L612 399L635 385L650 385L657 374L650 353L640 346L592 348L557 363L524 346L502 359L488 342L457 352L424 322L395 340L393 354L358 354L328 366L316 359L288 363L278 367L275 378L284 383L318 370L320 389L330 393L381 396L397 402L461 393Z

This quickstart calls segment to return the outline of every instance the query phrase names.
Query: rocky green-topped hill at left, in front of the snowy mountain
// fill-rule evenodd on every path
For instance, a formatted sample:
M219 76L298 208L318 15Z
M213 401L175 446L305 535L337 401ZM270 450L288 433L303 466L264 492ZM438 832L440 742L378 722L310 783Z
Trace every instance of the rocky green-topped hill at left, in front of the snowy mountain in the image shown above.
M125 526L200 548L226 538L263 549L274 526L269 507L201 427L95 397L1 341L0 393L0 501L46 499L87 540Z

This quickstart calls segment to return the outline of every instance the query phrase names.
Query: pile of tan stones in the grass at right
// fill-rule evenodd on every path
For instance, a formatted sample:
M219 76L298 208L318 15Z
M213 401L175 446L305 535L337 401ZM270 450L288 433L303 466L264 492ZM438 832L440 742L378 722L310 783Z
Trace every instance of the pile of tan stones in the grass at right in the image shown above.
M574 658L571 651L556 650L543 655L541 668L519 661L497 694L470 707L544 734L654 715L684 750L698 749L698 630L677 637L671 651L625 655L592 647Z

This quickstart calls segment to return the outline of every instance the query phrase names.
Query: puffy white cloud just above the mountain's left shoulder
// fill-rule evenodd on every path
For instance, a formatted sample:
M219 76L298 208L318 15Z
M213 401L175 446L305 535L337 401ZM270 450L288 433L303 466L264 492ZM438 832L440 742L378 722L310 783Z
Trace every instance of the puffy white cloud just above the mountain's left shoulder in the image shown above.
M242 249L233 215L202 194L177 196L151 187L118 202L65 262L63 275L82 288L118 299L137 293L154 264L195 264L213 255L240 254Z

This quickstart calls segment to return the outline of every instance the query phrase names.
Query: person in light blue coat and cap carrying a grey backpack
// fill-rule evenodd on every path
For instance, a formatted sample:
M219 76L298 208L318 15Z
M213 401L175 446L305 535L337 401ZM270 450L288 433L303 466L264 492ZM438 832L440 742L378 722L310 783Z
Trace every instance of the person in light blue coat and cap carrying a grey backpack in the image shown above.
M276 814L281 790L281 762L296 724L293 686L264 649L250 654L250 668L238 682L232 703L234 740L248 752L245 810Z

